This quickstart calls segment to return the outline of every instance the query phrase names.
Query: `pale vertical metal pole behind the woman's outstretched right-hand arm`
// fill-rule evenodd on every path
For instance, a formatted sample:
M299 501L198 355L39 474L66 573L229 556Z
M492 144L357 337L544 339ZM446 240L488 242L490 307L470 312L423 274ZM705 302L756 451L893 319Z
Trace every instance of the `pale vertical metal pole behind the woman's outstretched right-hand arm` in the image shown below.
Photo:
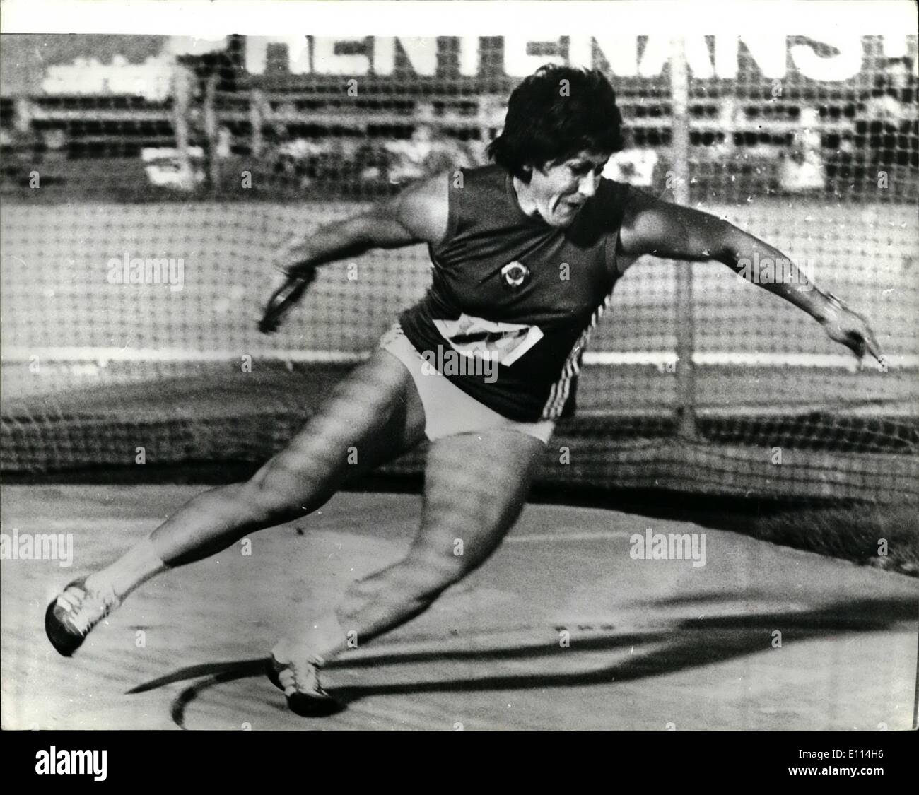
M682 36L671 41L670 93L673 107L671 159L674 174L674 200L689 203L689 80L686 47ZM695 320L693 317L693 267L676 264L676 420L681 438L698 438L696 424Z

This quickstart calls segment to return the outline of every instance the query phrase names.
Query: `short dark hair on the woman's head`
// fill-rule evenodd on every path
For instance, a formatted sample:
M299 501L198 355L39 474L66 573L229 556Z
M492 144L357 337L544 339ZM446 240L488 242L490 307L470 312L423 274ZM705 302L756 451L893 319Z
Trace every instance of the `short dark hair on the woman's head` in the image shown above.
M584 150L612 154L624 146L622 114L607 78L596 69L550 63L516 86L505 129L488 145L488 154L529 182L525 166L542 168Z

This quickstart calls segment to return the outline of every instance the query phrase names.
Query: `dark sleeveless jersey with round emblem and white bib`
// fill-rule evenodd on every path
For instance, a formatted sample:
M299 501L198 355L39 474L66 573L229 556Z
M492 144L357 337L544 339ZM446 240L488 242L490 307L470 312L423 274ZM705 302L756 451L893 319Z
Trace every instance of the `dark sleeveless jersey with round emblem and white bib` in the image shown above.
M461 183L449 176L448 232L429 246L433 283L399 319L409 341L509 419L573 414L584 348L619 274L628 190L601 179L558 229L520 210L498 165L463 170Z

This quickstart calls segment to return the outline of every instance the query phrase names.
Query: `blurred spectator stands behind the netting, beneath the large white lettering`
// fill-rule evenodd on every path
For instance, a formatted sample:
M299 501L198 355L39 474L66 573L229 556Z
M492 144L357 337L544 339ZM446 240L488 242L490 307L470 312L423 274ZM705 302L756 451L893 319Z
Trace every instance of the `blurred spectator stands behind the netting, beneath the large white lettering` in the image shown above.
M163 192L229 198L245 171L256 193L379 195L425 174L484 164L516 83L501 74L498 59L486 57L487 47L478 77L419 78L403 63L391 76L349 81L281 74L286 63L275 73L247 74L242 36L228 37L221 49L177 55L164 55L163 42L137 41L144 37L89 37L107 40L110 62L85 54L66 62L65 42L54 40L69 38L6 37L7 73L10 66L28 73L30 52L49 43L62 50L64 63L51 67L58 70L52 76L45 67L31 85L4 86L4 191L28 187L28 174L40 167L44 187L66 183L70 191L92 192L106 185L141 199ZM818 192L857 200L858 186L879 172L894 183L894 195L912 198L919 174L915 56L891 57L880 37L873 39L862 74L838 84L796 74L766 79L743 50L737 79L690 79L698 198L733 183L738 196ZM500 40L492 46L500 54ZM145 51L146 62L137 63ZM128 70L142 71L129 80L117 76ZM660 187L673 126L665 70L612 77L630 135L607 176ZM111 160L122 176L129 161L137 179L108 184Z

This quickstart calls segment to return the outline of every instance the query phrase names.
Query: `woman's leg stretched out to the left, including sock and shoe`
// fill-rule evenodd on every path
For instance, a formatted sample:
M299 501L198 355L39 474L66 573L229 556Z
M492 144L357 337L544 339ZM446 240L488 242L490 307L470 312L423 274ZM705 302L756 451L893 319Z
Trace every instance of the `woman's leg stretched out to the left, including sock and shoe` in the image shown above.
M118 561L65 591L49 608L49 637L58 651L73 653L101 615L155 574L311 513L349 477L414 447L424 429L411 375L399 359L378 351L337 384L287 449L249 481L199 494ZM87 605L87 595L101 596Z

